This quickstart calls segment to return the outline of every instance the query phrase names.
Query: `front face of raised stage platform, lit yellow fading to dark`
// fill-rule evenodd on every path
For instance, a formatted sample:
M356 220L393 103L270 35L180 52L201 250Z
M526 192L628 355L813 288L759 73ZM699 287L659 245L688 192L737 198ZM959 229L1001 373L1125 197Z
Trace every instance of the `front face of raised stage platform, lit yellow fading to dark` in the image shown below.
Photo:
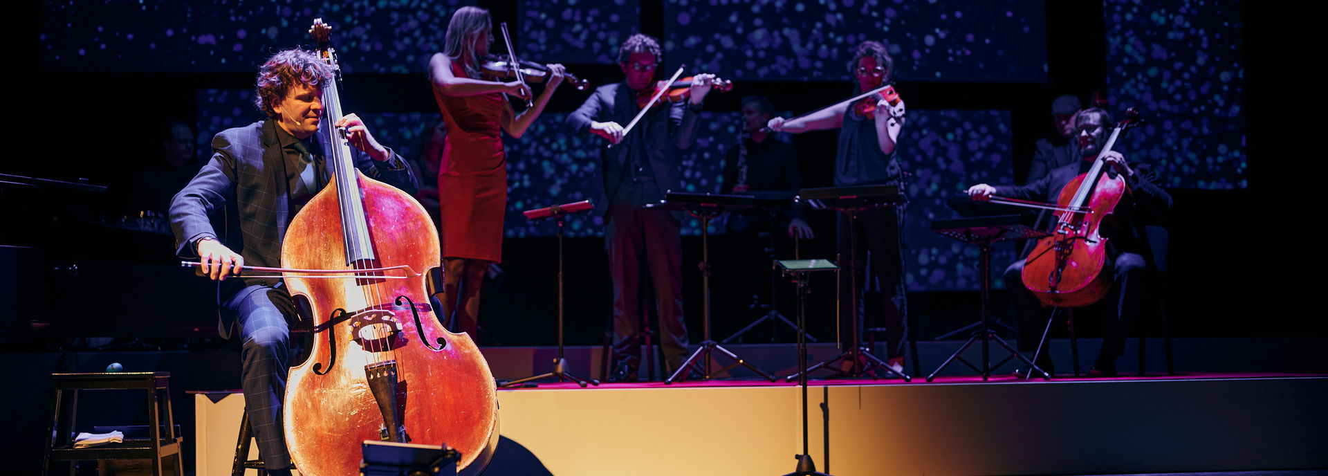
M797 387L501 391L505 441L486 475L531 465L552 475L786 473L801 452L798 395ZM825 471L818 404L826 402L834 475L1323 468L1325 395L1328 378L811 387L810 448ZM198 428L210 432L197 435L199 447L218 453L199 455L198 475L223 475L239 395L218 404L198 398Z

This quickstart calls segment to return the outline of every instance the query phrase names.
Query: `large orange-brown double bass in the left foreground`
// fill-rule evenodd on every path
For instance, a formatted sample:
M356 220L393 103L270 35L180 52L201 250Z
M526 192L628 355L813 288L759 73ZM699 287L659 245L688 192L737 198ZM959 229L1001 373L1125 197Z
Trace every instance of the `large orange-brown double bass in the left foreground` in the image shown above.
M340 76L331 28L319 19L309 33ZM341 118L336 80L323 104L332 182L282 245L286 285L315 316L312 352L286 390L291 459L303 475L349 476L364 440L446 444L461 452L458 473L479 473L498 443L497 394L475 343L428 304L438 233L420 202L353 166L345 130L331 129Z

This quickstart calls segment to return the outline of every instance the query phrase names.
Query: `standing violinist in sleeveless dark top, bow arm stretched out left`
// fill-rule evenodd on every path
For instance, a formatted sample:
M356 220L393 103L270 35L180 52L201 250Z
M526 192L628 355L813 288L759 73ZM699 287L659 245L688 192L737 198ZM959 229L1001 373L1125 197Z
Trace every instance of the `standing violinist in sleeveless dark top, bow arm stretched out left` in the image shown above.
M863 41L854 48L849 72L854 77L854 94L870 92L891 81L894 59L878 41ZM798 120L772 118L769 128L791 133L837 129L839 133L834 161L835 186L899 185L902 168L895 156L896 141L904 126L903 100L871 96L858 104L839 104ZM903 249L899 233L903 215L895 207L876 207L858 214L857 239L850 239L847 221L838 223L839 253L849 255L851 242L857 242L854 263L866 273L855 273L859 293L882 300L866 306L871 316L859 314L858 322L839 319L841 335L849 339L851 326L862 328L865 318L886 326L887 362L896 372L903 371L903 336L907 299L903 281ZM842 258L846 259L846 258ZM866 266L863 266L866 263ZM870 286L865 286L870 283ZM849 295L849 286L841 286L842 302L858 302ZM847 306L842 307L847 311ZM861 332L858 334L861 335ZM849 368L842 368L847 371Z

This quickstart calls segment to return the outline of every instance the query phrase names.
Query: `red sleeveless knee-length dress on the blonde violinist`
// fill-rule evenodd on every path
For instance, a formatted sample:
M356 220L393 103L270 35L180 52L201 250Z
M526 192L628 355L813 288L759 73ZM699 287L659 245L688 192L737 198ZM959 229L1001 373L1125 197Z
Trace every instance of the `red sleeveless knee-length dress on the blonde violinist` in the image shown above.
M452 73L466 77L459 61ZM507 160L502 149L502 93L442 96L433 92L448 136L438 168L442 257L499 262L507 207Z

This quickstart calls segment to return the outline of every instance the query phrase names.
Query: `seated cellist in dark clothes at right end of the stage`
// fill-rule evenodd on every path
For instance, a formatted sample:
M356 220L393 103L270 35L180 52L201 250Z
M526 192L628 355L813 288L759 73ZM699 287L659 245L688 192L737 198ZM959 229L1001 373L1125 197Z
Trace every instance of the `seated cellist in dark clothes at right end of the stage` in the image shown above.
M1112 117L1106 110L1092 108L1078 112L1074 116L1074 137L1080 157L1077 164L1057 168L1045 177L1023 186L973 185L968 187L968 195L975 201L985 201L995 194L1054 203L1066 183L1093 166L1098 152L1110 136L1110 124ZM1139 299L1146 286L1143 281L1147 279L1147 270L1153 265L1153 259L1138 217L1162 215L1171 207L1171 195L1138 173L1137 168L1131 168L1125 156L1112 150L1102 154L1102 160L1108 169L1105 173L1123 176L1129 190L1121 197L1116 211L1102 222L1101 233L1110 238L1108 262L1104 265L1102 273L1113 273L1114 285L1106 297L1096 304L1101 306L1108 315L1102 320L1102 350L1098 352L1089 376L1116 376L1116 359L1123 354L1126 331L1139 310ZM1056 225L1054 222L1056 217L1050 217L1050 223L1045 229L1050 230ZM1045 319L1038 318L1044 314L1040 312L1037 297L1024 286L1024 262L1023 259L1017 261L1005 270L1005 286L1009 290L1012 314L1019 322L1019 347L1021 351L1033 351L1041 339ZM1048 372L1054 371L1045 344L1035 363Z

